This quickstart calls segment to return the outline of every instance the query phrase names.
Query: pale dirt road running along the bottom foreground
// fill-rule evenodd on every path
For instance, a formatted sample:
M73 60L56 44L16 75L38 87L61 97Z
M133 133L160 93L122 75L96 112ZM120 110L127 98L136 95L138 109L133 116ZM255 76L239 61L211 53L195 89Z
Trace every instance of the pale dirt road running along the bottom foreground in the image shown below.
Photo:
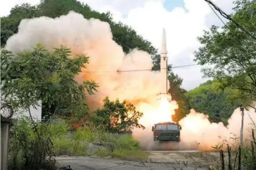
M202 170L216 164L218 153L197 151L148 151L147 160L119 160L93 157L56 157L60 165L71 165L75 170L92 169L183 169Z

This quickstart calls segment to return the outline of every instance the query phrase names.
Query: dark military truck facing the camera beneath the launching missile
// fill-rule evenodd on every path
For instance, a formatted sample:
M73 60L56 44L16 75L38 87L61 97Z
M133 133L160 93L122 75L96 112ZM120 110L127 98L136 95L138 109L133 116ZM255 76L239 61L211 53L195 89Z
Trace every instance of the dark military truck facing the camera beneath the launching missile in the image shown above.
M152 126L154 141L180 142L181 126L173 122L162 122Z

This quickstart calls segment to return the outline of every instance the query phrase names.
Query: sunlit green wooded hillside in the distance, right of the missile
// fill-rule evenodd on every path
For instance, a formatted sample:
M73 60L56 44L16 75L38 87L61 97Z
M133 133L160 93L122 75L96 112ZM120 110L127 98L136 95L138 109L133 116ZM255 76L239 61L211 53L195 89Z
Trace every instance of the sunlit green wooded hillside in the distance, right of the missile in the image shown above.
M239 90L223 88L218 81L207 81L185 95L189 101L189 109L208 114L210 121L224 124L228 123L234 109L242 103Z

